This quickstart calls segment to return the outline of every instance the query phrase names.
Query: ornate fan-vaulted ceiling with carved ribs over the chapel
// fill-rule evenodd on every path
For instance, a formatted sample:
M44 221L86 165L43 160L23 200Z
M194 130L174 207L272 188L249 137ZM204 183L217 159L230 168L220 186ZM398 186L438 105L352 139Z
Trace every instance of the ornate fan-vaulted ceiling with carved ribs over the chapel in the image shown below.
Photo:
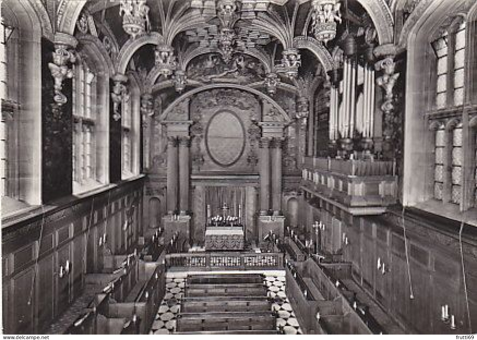
M108 42L115 46L114 56L126 43L137 39L124 30L124 2L132 0L90 0L80 15L80 20L82 16L93 18L99 35L112 40ZM177 69L184 70L189 80L207 82L210 80L207 68L215 68L211 72L219 75L245 70L238 80L241 83L264 80L268 73L278 70L280 81L293 86L293 79L286 72L280 72L277 65L280 65L283 50L293 47L294 38L309 37L313 43L321 45L317 49L324 47L328 51L330 59L333 50L342 47L343 40L350 34L355 37L358 47L365 48L376 41L373 20L357 0L336 2L341 5L338 12L342 21L337 20L336 37L323 43L313 39L311 1L147 0L147 24L143 34L156 34L157 43L140 46L129 60L128 69L150 76L157 64L157 46L170 45ZM232 4L232 11L224 12L224 4ZM229 45L225 46L227 40ZM319 58L310 50L299 51L298 77L323 74ZM173 72L159 72L153 79L157 83L170 79L171 75ZM238 76L237 72L234 75Z

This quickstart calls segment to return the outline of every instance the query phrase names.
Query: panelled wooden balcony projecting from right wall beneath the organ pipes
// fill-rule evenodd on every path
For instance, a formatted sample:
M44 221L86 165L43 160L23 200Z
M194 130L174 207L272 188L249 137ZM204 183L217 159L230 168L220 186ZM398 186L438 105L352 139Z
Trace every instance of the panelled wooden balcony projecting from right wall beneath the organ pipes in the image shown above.
M396 203L394 161L305 158L302 189L353 215L380 214Z

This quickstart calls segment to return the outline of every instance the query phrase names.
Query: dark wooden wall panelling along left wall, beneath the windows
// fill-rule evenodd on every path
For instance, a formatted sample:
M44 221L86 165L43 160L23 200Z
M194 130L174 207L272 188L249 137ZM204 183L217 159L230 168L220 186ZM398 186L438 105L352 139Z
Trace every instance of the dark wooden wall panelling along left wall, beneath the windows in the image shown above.
M100 218L93 223L90 216L94 206L99 211L110 210L114 197L119 201L125 195L137 191L142 207L142 180L124 184L93 198L69 203L62 210L53 210L45 216L31 216L29 220L10 224L2 230L3 256L3 332L6 334L43 333L53 319L58 318L72 301L83 291L84 274L101 272L103 269L104 246L99 245L99 237L107 234L107 242L114 241L114 235L122 233L118 215L123 210L114 210L108 220ZM98 203L100 202L100 203ZM103 204L99 205L99 204ZM92 216L91 216L92 217ZM133 219L129 229L130 244L135 244L142 221ZM105 223L108 229L105 230ZM28 230L28 232L23 232ZM40 256L37 261L37 242L42 230ZM36 237L36 239L35 239ZM88 241L86 241L88 240ZM6 247L3 245L6 244ZM88 245L88 246L87 246ZM122 245L119 243L118 249ZM114 248L110 243L106 245ZM119 253L116 253L119 254ZM90 257L90 255L92 255ZM90 261L89 265L86 262ZM60 266L70 261L71 272L59 278ZM31 301L30 301L31 298Z

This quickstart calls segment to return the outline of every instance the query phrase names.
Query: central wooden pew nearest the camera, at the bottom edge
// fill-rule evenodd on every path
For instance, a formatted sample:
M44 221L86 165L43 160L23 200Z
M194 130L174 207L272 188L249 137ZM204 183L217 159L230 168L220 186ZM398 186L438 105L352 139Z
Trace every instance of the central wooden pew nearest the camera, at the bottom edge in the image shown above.
M276 314L266 312L181 313L177 331L276 330Z

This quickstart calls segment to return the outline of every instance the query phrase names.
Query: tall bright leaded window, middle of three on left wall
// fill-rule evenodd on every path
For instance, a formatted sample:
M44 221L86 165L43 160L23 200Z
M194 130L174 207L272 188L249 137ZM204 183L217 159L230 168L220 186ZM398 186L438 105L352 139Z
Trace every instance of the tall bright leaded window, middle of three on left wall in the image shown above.
M75 66L73 78L73 191L95 184L96 76L85 62Z

